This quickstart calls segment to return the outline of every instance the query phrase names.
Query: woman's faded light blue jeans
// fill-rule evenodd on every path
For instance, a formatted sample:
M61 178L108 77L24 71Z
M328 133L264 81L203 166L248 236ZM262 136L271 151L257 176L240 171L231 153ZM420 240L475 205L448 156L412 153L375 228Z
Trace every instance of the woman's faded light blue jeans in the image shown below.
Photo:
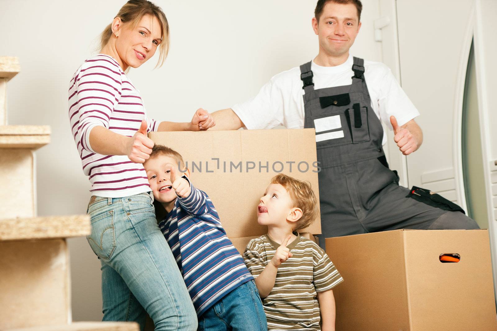
M196 330L197 315L183 277L155 218L152 197L96 197L88 205L101 261L103 321L135 321L145 312L158 330Z

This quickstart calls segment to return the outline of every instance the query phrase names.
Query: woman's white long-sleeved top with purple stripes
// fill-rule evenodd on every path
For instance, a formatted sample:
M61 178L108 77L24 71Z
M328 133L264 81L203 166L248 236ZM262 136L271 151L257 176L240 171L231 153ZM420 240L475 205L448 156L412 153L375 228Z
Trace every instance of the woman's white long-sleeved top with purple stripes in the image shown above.
M139 91L114 58L97 54L84 61L69 84L69 121L91 192L105 198L122 198L151 191L145 169L126 155L102 155L89 144L90 130L103 126L133 136L142 120L147 131L159 122L147 117Z

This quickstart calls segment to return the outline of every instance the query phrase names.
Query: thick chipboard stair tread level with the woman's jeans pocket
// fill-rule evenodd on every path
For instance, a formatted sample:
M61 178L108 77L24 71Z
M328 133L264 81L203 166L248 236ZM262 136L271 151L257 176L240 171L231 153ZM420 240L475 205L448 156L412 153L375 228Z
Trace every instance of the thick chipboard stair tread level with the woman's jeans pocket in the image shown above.
M88 236L88 215L0 219L0 241Z

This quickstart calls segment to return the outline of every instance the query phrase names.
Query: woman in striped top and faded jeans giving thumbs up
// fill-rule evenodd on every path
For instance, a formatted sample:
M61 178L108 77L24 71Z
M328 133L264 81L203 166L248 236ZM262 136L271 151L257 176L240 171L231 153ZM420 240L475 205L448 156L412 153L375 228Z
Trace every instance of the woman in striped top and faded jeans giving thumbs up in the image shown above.
M71 79L69 118L93 193L87 240L101 261L103 320L136 321L143 330L147 312L155 330L196 330L195 310L157 225L142 163L154 146L147 132L207 130L214 123L203 110L190 123L149 119L125 74L157 49L162 65L168 32L160 7L128 1L103 31L100 54L86 60Z

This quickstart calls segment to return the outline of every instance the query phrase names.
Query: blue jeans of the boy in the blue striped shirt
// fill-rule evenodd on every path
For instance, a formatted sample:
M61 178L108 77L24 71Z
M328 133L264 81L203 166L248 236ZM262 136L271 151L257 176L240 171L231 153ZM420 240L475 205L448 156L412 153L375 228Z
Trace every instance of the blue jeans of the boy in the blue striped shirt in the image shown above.
M216 302L198 319L198 331L267 331L255 282L250 280Z

